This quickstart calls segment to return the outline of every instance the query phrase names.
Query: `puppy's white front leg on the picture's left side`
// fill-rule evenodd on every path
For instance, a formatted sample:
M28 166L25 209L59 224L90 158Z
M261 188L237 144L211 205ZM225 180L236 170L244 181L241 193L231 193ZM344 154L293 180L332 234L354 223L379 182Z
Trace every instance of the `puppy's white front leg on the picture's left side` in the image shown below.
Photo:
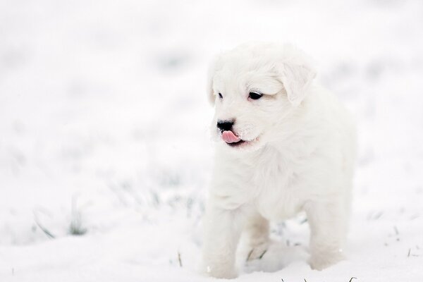
M235 278L235 252L245 223L243 209L222 209L211 203L204 217L204 270L216 278Z

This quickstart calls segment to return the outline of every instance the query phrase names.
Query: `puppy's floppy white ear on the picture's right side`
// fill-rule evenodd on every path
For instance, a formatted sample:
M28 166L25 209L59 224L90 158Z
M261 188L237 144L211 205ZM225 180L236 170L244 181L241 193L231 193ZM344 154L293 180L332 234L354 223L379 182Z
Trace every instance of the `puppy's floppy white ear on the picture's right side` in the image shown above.
M278 73L289 102L298 106L309 92L316 72L302 51L288 47L287 53L290 56L278 66Z

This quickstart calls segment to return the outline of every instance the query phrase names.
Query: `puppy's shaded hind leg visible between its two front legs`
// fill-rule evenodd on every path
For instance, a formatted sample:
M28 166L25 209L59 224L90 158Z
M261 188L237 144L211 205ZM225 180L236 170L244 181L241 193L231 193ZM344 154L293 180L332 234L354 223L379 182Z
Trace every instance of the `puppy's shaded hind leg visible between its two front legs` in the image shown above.
M262 257L269 247L269 221L256 212L247 219L245 233L250 249L247 260Z

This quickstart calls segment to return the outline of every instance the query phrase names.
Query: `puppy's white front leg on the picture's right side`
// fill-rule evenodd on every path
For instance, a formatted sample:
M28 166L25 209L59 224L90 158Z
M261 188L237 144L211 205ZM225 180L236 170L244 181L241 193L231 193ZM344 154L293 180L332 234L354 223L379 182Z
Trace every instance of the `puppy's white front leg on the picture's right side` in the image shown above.
M305 210L311 231L312 269L321 270L344 259L348 213L343 201L309 202Z

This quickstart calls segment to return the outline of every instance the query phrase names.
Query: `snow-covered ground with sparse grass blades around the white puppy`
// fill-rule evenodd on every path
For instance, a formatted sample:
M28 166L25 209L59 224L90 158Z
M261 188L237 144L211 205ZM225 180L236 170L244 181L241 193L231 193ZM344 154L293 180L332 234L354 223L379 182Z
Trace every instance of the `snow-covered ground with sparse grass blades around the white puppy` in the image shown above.
M423 2L399 0L0 0L0 281L215 281L205 73L248 40L315 59L360 156L348 260L312 271L300 215L235 281L423 281Z

